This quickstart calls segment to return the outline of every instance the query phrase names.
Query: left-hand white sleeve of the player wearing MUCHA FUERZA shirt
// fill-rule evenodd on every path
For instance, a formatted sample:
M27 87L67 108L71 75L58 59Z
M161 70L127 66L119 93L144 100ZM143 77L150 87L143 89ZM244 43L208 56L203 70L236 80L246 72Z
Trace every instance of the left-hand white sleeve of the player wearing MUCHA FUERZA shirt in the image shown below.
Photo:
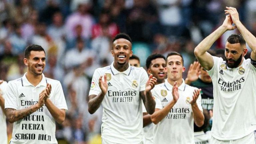
M12 83L8 83L5 92L5 108L18 109L17 91L16 87Z

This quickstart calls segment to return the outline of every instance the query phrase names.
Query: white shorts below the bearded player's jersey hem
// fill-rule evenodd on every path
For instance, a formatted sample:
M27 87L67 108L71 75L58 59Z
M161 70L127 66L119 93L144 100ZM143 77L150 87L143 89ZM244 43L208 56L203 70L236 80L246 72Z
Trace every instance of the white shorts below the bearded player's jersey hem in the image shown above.
M211 137L210 144L256 144L256 130L249 135L236 140L217 140Z

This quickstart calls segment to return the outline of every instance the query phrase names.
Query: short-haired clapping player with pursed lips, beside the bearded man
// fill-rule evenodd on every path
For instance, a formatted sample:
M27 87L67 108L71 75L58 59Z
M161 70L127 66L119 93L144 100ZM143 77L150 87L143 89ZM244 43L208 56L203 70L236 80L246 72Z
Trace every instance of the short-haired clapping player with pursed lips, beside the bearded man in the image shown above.
M156 109L151 115L154 124L154 144L194 144L194 121L204 123L200 89L185 84L182 79L183 58L171 52L166 57L167 79L156 85Z

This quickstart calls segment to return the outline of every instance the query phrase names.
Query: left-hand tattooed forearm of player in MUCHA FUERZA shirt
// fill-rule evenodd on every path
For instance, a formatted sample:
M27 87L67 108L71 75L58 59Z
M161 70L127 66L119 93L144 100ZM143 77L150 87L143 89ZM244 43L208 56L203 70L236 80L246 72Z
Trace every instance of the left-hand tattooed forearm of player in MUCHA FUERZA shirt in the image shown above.
M16 122L18 120L21 120L33 112L37 111L40 108L39 105L35 104L32 106L29 106L25 109L20 109L20 110L15 110L13 108L6 108L6 115L7 115L7 120L10 123Z

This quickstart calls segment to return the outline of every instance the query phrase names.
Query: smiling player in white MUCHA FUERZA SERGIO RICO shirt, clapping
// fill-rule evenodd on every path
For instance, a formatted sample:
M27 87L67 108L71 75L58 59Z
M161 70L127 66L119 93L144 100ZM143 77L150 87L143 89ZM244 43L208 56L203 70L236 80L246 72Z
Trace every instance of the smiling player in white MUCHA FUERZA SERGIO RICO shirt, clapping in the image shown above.
M39 45L25 50L23 77L8 82L5 110L14 123L9 144L57 144L55 121L62 123L67 109L61 83L46 78L45 51Z

